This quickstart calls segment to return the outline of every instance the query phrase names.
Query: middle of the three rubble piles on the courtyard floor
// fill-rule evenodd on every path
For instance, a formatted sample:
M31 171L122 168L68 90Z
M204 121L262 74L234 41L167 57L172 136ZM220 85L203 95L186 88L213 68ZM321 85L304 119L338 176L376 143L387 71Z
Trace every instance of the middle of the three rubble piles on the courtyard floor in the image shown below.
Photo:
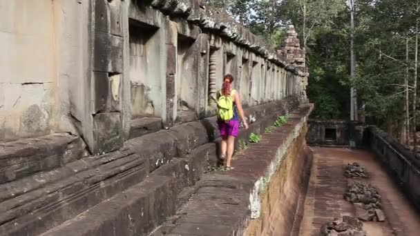
M385 214L381 210L381 195L378 190L370 184L361 181L354 183L347 188L344 194L346 201L352 202L356 206L356 217L365 222L383 222Z

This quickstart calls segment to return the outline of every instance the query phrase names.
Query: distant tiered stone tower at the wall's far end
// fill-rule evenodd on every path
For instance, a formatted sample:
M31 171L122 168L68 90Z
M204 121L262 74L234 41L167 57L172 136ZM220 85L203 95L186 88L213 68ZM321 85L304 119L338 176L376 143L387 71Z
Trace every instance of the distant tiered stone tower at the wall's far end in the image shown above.
M294 29L293 25L287 26L287 32L285 35L285 39L282 43L281 50L278 53L286 57L287 61L292 64L292 66L296 66L301 72L303 72L304 77L301 77L301 86L302 91L301 99L304 103L307 103L306 97L306 86L307 86L307 77L309 77L309 73L307 72L306 68L306 50L305 48L300 48L300 40L298 39L298 33Z

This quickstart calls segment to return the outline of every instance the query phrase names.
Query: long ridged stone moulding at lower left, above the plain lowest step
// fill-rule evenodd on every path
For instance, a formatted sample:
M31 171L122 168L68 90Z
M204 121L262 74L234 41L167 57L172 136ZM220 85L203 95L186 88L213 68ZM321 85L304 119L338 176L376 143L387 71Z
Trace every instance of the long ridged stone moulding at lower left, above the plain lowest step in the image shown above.
M0 235L38 235L75 217L142 181L147 161L123 150L26 179L14 189L20 197L0 204Z

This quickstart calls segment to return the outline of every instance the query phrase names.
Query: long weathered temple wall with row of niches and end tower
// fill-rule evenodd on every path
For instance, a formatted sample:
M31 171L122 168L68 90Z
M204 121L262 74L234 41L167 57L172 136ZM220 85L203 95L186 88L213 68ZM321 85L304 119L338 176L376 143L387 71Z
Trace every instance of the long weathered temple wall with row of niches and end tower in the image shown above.
M283 57L202 1L5 1L0 12L0 141L69 132L108 153L146 121L214 115L209 95L227 73L244 106L306 99L292 27Z

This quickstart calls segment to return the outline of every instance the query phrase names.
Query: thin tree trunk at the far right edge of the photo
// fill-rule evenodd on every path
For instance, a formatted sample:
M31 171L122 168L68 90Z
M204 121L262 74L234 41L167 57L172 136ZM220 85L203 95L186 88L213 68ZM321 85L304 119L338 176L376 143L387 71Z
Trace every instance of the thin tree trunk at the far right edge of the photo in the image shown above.
M417 3L417 13L419 12L419 3ZM416 18L416 42L414 49L414 85L413 85L413 96L412 96L412 135L413 135L413 151L417 154L417 69L418 69L418 55L419 55L419 18Z

